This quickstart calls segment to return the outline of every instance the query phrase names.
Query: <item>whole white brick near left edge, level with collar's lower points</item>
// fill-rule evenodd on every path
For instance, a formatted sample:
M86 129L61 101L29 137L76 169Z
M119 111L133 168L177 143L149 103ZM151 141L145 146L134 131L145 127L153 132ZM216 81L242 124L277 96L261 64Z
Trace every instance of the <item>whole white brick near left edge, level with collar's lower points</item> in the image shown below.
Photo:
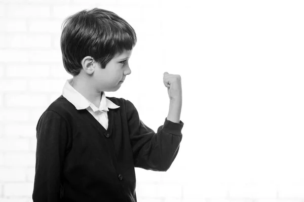
M48 103L46 95L7 94L5 105L8 107L45 107Z

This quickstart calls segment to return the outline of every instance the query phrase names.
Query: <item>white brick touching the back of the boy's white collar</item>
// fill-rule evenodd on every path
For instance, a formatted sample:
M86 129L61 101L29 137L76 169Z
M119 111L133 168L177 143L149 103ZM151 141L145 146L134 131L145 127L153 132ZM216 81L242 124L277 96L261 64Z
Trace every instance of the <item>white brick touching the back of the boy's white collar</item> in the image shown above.
M61 94L65 79L30 80L29 90L33 92L57 92Z

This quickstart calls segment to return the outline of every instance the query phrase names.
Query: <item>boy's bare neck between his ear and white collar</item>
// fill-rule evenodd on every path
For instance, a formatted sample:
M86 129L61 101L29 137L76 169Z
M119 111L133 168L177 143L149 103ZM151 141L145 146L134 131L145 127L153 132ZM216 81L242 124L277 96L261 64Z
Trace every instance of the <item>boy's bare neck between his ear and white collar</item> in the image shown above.
M99 107L102 92L97 92L89 80L81 77L81 75L79 76L73 77L71 86L80 94L82 94L87 100L93 103L96 107Z

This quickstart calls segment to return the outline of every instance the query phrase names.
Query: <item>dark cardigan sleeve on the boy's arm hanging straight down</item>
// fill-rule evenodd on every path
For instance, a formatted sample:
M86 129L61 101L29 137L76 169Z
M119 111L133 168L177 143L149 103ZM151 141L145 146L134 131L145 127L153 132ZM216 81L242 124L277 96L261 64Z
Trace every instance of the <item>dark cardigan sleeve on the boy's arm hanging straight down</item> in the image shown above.
M60 177L68 143L68 123L55 111L45 111L37 123L36 132L33 202L60 201Z

